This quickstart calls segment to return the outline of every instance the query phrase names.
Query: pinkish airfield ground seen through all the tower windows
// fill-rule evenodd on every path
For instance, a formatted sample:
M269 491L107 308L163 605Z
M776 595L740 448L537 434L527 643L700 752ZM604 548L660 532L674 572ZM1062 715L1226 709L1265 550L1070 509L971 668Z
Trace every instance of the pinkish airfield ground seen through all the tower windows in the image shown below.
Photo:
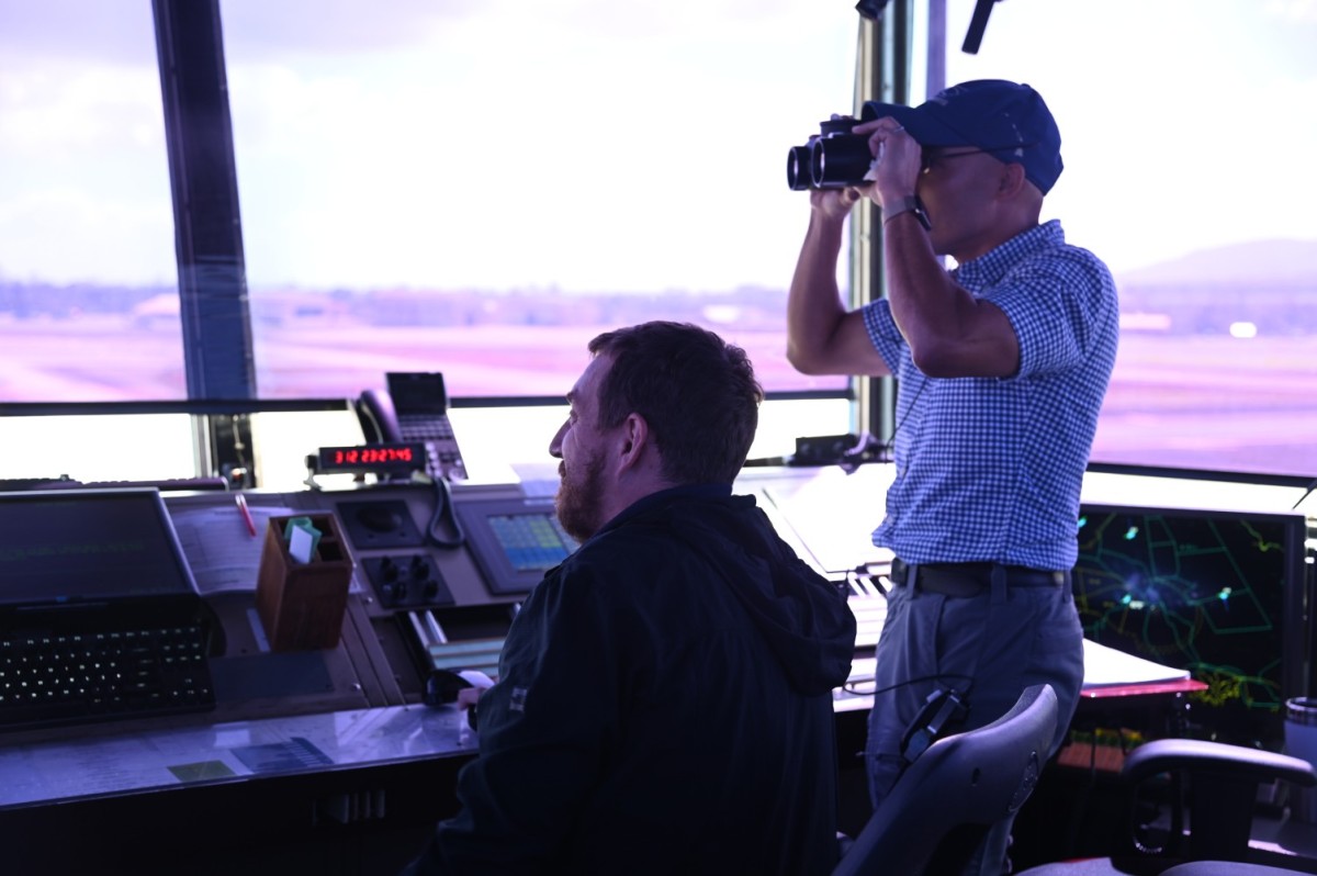
M346 319L257 331L262 398L345 398L383 386L387 370L443 371L453 397L561 397L611 327L373 327ZM774 390L839 389L786 362L781 331L719 329ZM0 321L0 399L120 400L184 397L176 324L122 317ZM1317 339L1234 339L1127 332L1094 458L1175 468L1317 474ZM806 424L807 425L807 424ZM802 435L817 433L802 427Z

